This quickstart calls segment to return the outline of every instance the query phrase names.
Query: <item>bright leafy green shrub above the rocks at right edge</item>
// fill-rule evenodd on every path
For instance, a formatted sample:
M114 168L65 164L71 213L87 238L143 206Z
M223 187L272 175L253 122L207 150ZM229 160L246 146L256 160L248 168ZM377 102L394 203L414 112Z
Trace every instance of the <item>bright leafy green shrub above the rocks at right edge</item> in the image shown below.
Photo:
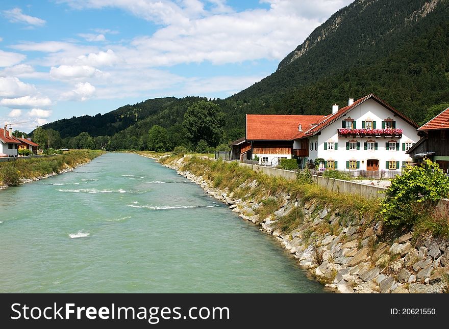
M380 217L391 226L411 226L433 203L449 195L449 177L437 163L425 159L396 176L381 201Z

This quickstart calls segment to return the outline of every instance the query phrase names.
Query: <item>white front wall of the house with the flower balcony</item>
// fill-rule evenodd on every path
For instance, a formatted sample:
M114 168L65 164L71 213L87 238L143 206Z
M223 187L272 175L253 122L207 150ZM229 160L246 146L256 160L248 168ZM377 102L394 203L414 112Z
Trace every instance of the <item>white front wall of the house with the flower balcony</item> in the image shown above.
M362 121L372 120L376 121L376 129L382 129L382 121L390 117L396 121L396 128L403 129L403 135L401 139L391 139L391 138L353 138L353 137L340 137L338 138L337 129L341 128L341 122L345 118L350 116L357 122L357 129L362 129ZM416 143L419 140L416 128L411 126L408 122L403 120L398 116L389 111L387 108L376 102L375 100L369 99L362 104L353 108L344 117L336 120L331 125L321 130L321 134L314 137L318 138L318 152L310 152L310 159L315 159L317 157L323 158L325 160L335 160L338 161L337 169L346 169L346 161L348 160L358 160L360 161L360 170L366 170L366 160L377 159L379 160L379 170L386 170L386 161L400 161L400 166L402 166L403 161L411 160L409 155L402 150L403 143ZM313 140L313 138L312 138ZM359 151L347 151L346 142L356 140L360 143ZM377 151L365 151L364 144L368 140L373 140L378 143ZM399 151L388 151L385 149L385 143L394 140L400 143ZM324 143L334 142L338 143L337 151L325 150ZM363 161L363 163L362 163ZM388 168L387 168L388 170Z

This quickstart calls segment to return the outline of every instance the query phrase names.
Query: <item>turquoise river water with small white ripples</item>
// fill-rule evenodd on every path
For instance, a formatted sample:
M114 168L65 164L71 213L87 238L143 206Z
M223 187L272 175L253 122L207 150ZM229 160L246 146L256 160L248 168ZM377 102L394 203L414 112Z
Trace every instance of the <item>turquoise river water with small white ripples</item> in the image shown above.
M254 224L135 154L0 191L0 251L0 292L325 291Z

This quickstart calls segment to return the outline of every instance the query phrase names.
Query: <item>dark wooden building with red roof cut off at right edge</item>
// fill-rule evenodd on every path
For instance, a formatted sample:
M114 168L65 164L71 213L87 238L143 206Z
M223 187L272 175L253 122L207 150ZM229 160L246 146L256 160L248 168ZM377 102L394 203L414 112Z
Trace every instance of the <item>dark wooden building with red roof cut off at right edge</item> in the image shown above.
M427 157L449 172L449 107L418 128L421 139L408 154L414 159Z

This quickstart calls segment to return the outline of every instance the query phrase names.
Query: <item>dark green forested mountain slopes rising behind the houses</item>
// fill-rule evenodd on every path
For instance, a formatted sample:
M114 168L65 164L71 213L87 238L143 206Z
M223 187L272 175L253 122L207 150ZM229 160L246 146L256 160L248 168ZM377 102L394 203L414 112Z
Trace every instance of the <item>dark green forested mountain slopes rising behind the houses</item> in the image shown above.
M339 10L281 61L276 72L227 98L223 142L244 134L245 114L326 115L334 103L374 93L418 123L449 102L449 0L357 0ZM293 33L293 32L292 32ZM82 131L142 148L153 125L170 146L189 145L182 121L201 97L149 99L94 117L49 123L62 138ZM181 134L181 135L180 135ZM123 140L131 141L129 145ZM138 142L140 141L140 142Z

